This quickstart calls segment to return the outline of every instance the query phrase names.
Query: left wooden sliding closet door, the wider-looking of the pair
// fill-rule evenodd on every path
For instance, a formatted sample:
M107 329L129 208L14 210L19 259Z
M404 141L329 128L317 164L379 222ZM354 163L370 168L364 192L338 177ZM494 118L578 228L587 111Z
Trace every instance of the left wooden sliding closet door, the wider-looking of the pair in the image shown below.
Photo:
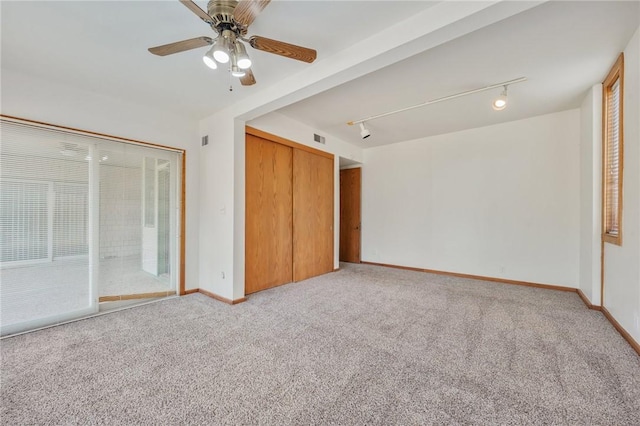
M292 152L246 137L245 294L292 281Z

